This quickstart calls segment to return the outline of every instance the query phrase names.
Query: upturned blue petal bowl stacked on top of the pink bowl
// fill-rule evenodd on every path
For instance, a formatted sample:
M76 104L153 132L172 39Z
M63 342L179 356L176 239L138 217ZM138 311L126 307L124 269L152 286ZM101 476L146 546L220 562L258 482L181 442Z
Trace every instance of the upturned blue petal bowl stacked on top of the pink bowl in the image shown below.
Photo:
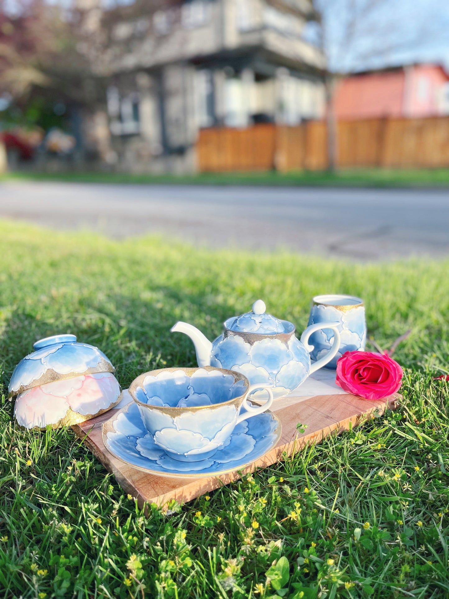
M33 347L35 351L14 368L8 386L10 398L27 389L80 374L115 372L103 352L87 343L77 343L75 335L45 337Z

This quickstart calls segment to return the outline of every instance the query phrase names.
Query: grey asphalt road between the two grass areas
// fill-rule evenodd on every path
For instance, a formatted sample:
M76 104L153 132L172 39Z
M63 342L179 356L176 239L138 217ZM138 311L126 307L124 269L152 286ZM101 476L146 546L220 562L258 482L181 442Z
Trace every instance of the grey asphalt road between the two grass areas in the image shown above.
M449 190L0 183L0 217L360 260L449 255Z

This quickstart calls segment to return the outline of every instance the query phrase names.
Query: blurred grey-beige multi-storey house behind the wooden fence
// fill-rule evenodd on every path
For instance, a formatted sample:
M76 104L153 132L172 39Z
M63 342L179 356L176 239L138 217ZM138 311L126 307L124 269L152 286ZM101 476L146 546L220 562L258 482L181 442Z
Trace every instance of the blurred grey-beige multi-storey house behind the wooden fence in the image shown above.
M195 170L201 128L323 117L324 56L303 37L311 0L78 4L91 41L102 36L92 57L123 170Z

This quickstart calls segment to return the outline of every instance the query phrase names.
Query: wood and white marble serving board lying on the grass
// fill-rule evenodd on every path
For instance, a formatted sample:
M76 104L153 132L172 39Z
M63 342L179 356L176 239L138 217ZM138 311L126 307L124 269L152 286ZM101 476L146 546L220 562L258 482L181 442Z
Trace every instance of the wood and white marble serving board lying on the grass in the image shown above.
M284 452L292 455L307 444L319 443L333 431L338 434L348 430L350 425L357 426L365 420L383 414L387 407L395 407L398 396L380 401L361 400L354 395L345 394L334 381L335 371L318 371L303 383L296 394L293 392L287 397L275 400L271 411L282 423L281 438L274 449L242 470L242 473L272 465ZM124 391L123 401L116 409L125 406L130 400L128 392ZM110 418L111 412L113 410L74 425L72 429L84 440L105 468L114 474L123 490L137 499L139 507L152 502L164 506L172 499L178 503L185 503L239 479L240 473L237 471L207 478L171 479L137 470L114 457L103 444L101 425ZM307 424L304 434L297 431L298 422Z

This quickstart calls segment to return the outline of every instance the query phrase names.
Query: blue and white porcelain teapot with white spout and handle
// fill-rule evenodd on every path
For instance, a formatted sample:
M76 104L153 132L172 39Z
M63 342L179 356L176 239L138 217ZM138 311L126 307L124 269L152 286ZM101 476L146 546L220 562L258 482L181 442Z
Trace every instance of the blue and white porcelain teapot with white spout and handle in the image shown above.
M265 304L258 299L253 310L238 317L228 318L224 332L211 343L201 331L186 322L177 322L172 332L182 332L195 344L198 366L226 368L244 374L251 385L256 383L273 387L275 398L286 395L307 379L309 374L327 364L338 352L340 334L338 322L316 323L295 337L295 325L265 313ZM333 329L335 335L329 352L316 362L310 361L313 346L310 335L318 329ZM263 398L266 391L256 397Z

